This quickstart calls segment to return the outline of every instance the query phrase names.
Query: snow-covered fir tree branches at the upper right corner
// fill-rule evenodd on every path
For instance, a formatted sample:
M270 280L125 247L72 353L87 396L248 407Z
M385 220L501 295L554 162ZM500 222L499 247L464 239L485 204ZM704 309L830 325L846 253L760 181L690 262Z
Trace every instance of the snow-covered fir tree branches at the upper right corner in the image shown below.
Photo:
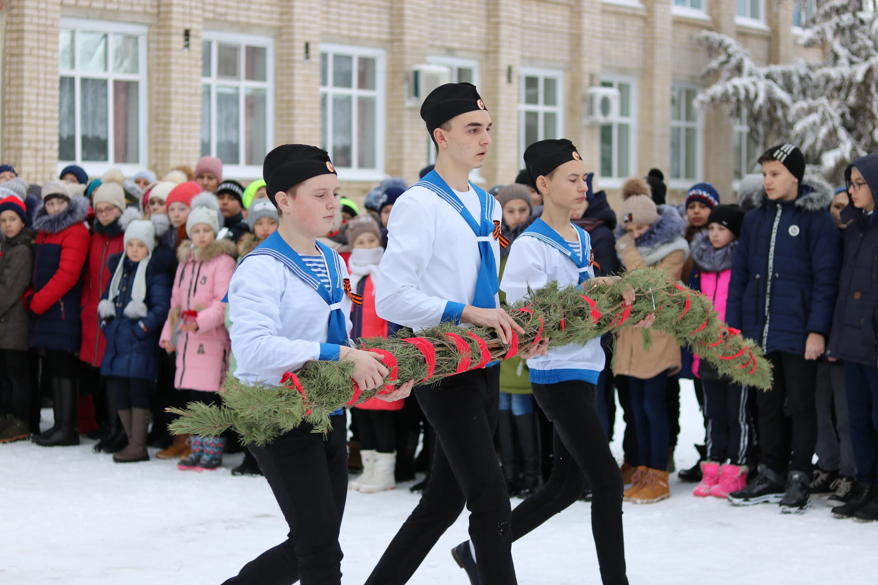
M790 1L790 0L780 0ZM795 0L794 0L795 1ZM817 0L798 42L824 59L760 67L737 40L702 32L716 79L699 103L745 117L754 139L788 141L838 180L846 164L878 151L878 14L872 0Z

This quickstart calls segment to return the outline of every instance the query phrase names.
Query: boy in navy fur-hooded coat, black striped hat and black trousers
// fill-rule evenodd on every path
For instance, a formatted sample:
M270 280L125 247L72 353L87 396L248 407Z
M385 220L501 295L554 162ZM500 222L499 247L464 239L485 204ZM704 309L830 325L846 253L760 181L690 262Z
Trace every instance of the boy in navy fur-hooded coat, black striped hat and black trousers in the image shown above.
M824 353L838 294L840 239L827 210L832 190L816 177L805 180L802 151L774 146L759 162L764 186L741 228L726 317L746 337L759 340L774 366L774 388L757 393L759 476L729 500L780 503L782 512L802 512L810 506L817 358ZM791 453L785 410L792 421Z

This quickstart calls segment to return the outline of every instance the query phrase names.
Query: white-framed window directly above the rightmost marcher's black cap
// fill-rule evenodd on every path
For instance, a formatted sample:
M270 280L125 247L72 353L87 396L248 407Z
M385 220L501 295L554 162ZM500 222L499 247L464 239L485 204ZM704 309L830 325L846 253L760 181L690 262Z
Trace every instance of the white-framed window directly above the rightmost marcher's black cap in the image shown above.
M564 135L564 72L522 67L520 73L518 155L523 168L528 146Z

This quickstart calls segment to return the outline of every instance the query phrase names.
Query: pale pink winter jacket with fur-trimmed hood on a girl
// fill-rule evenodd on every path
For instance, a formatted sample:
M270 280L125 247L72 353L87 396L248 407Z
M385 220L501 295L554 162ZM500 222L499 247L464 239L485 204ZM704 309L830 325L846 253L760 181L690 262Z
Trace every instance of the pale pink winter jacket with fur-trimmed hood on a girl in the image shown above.
M226 331L228 283L234 273L234 242L220 239L203 248L195 248L188 239L177 248L180 260L171 289L170 314L162 328L161 341L171 340L184 310L197 310L198 331L181 333L176 340L177 389L216 392L228 370L231 344Z

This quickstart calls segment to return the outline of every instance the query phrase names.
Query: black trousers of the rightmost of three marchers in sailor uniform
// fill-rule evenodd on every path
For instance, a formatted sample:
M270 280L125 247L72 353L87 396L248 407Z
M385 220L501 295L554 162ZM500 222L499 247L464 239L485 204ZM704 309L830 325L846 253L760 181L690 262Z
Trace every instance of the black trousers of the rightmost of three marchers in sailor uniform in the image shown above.
M536 402L554 423L554 467L549 481L512 511L518 540L582 496L590 485L592 534L604 585L628 585L622 528L622 474L610 453L595 408L594 384L531 384ZM481 563L478 558L477 561Z

